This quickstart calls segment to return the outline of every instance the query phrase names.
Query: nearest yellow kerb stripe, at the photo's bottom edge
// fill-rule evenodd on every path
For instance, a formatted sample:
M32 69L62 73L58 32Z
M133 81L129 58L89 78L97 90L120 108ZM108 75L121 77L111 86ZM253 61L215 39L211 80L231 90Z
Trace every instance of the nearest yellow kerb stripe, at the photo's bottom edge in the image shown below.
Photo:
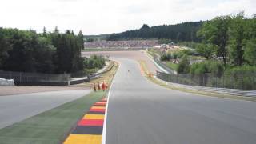
M102 135L70 134L64 144L100 144Z

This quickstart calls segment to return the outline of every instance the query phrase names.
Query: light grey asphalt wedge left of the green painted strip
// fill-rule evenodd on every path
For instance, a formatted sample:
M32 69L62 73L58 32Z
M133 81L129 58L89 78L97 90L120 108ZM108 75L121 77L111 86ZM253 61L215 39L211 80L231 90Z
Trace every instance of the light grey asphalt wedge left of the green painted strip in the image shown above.
M89 94L90 90L62 90L0 97L0 129Z

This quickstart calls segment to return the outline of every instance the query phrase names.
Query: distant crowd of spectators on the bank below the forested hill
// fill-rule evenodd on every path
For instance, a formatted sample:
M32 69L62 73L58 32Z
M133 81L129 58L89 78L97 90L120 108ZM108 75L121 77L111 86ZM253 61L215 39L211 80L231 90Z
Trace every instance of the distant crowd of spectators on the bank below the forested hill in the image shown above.
M85 48L150 48L158 45L158 40L94 41L86 42Z

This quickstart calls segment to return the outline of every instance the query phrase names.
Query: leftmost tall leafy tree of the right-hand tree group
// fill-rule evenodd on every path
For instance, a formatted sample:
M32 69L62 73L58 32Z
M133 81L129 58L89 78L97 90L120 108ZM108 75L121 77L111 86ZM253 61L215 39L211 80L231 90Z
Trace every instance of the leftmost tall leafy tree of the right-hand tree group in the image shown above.
M230 16L221 16L205 22L198 30L198 37L202 42L217 46L217 56L222 58L226 66L227 44L229 40Z

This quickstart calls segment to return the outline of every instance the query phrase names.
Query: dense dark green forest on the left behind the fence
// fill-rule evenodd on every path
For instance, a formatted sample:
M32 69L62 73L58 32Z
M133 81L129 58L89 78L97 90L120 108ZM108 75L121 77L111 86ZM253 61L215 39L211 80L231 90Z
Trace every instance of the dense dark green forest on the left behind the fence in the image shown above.
M84 69L83 34L0 28L0 70L62 74Z

